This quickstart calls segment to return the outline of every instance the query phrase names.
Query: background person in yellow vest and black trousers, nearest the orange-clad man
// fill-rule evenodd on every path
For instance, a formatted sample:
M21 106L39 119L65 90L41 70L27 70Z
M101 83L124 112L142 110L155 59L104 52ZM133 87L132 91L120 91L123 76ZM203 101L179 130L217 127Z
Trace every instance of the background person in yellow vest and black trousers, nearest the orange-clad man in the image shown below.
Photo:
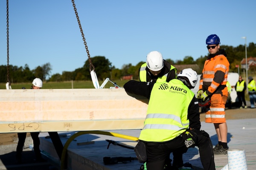
M244 92L246 91L246 82L242 79L241 76L239 76L239 80L238 82L236 82L235 85L235 89L236 89L236 94L237 94L237 98L239 101L239 108L243 108L242 104L244 102L244 108L247 108L246 102L245 102L245 98L244 98Z

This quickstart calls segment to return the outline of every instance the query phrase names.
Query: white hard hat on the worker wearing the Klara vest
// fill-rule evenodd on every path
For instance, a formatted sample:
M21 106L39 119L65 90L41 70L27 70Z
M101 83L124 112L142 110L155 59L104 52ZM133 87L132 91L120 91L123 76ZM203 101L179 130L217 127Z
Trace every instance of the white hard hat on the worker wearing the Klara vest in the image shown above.
M182 77L186 77L189 82L187 82L186 78L183 79ZM185 83L187 83L186 86L191 89L195 87L198 81L198 74L192 68L185 68L180 71L180 73L177 75L177 78L182 79L182 82L184 82L183 80L185 80Z

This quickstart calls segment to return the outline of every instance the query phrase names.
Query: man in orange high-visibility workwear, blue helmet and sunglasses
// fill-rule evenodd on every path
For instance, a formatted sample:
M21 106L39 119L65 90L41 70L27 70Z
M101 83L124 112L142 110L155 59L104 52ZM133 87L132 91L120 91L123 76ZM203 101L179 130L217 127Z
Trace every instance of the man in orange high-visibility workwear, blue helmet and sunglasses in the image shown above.
M218 144L213 148L216 155L227 154L227 123L225 104L227 102L227 75L230 63L227 54L220 49L220 39L216 34L206 39L209 56L204 63L197 98L203 101L210 97L209 111L205 113L205 122L213 123L218 136Z

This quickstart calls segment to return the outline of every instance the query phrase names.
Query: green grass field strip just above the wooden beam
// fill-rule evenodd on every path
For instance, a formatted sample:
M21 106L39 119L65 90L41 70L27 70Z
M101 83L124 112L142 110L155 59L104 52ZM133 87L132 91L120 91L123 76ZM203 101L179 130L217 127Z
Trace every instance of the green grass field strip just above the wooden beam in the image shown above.
M123 87L128 80L117 80L117 85ZM99 81L99 85L102 85L103 81ZM73 85L72 85L73 84ZM31 88L32 83L12 83L12 89L26 89ZM104 88L114 87L111 82L107 82ZM69 81L69 82L43 82L43 89L68 89L68 88L94 88L92 81ZM0 83L0 89L6 89L6 83Z

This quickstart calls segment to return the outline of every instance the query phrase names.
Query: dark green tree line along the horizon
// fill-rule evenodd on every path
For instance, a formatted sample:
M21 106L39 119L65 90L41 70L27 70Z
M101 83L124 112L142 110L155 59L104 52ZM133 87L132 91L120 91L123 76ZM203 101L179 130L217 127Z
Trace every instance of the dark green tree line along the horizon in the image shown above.
M221 45L221 49L224 49L227 53L227 59L230 62L230 72L237 72L238 68L236 65L241 64L241 60L245 58L245 46L239 45L237 47ZM198 74L201 73L204 62L207 56L201 56L194 60L191 56L186 56L183 60L172 60L166 59L172 65L184 65L184 64L197 64L198 68L195 70ZM247 47L247 58L256 57L256 44L250 42ZM137 65L132 65L131 63L125 64L121 69L112 66L111 62L104 56L91 57L91 62L95 66L95 72L99 80L104 80L109 77L111 80L122 79L125 75L133 75L133 79L138 79L140 66L145 63L145 61L139 62ZM239 67L242 71L241 66ZM17 82L31 82L35 77L39 77L44 81L49 82L61 82L61 81L71 81L71 80L91 80L90 77L90 63L87 59L81 68L77 68L74 71L63 71L62 74L50 75L52 70L51 64L48 62L41 66L36 67L33 70L29 69L26 64L22 66L9 65L9 80L12 83ZM256 71L256 67L250 68L251 72ZM49 77L47 79L47 77ZM7 65L0 65L0 82L6 82L7 79Z

